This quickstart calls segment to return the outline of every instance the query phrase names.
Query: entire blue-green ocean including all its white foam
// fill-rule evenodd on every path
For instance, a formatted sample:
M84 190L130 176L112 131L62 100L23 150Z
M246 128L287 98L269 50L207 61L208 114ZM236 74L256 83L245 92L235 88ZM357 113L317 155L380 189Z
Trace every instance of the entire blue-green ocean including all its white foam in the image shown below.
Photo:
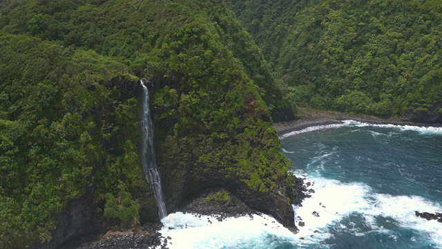
M162 220L169 248L442 248L442 129L342 124L280 137L311 197L295 207L298 234L271 216L218 221L180 212Z

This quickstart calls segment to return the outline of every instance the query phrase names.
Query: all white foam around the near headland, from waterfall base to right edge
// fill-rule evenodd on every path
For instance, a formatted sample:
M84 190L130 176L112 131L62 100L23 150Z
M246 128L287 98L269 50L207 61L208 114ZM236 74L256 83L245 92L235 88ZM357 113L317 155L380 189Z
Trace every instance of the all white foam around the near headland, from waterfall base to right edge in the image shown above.
M296 175L306 176L300 170ZM432 203L420 196L391 196L377 194L363 183L342 183L323 178L319 174L307 176L314 193L302 202L302 207L294 207L298 234L293 234L278 221L267 215L242 216L218 221L216 216L169 214L162 220L160 232L168 239L168 247L173 248L278 248L282 243L302 248L328 248L323 242L332 237L331 229L343 230L361 237L372 232L389 234L397 239L397 234L385 228L385 223L394 226L419 230L434 245L442 248L442 230L437 221L426 221L414 215L414 211L438 212L441 205ZM314 216L313 212L319 216ZM358 221L348 221L349 216L357 215ZM380 217L383 223L379 222ZM347 221L345 221L347 220ZM300 221L304 222L303 226ZM356 223L355 223L356 222ZM359 223L359 224L357 224ZM361 223L365 228L361 228Z

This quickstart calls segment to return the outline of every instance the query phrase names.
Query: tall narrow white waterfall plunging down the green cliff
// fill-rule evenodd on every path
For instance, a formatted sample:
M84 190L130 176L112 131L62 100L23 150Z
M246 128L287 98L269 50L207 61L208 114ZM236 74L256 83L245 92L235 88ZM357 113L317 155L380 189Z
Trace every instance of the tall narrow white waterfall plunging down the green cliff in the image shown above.
M155 201L157 202L158 215L160 219L167 216L166 205L164 205L163 193L161 190L160 174L157 169L157 162L155 160L155 151L153 150L153 127L151 120L151 111L149 109L149 92L143 81L140 80L143 86L143 117L142 126L144 140L142 145L142 165L143 172L146 175L147 181L151 183Z

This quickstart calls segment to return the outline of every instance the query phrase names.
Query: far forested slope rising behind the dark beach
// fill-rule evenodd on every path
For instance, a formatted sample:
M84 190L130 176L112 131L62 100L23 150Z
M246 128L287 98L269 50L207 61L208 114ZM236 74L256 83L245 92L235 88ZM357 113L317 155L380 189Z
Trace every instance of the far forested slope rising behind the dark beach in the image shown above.
M229 1L299 104L442 122L440 1Z

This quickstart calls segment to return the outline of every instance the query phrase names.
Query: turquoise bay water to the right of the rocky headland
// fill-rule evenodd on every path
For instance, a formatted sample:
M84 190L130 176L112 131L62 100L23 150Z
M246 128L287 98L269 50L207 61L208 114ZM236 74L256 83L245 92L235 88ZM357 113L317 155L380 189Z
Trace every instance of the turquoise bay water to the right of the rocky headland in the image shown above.
M441 129L349 122L288 136L282 147L306 181L342 187L318 186L323 205L343 207L320 229L329 238L307 248L442 248L442 223L414 216L442 211Z

